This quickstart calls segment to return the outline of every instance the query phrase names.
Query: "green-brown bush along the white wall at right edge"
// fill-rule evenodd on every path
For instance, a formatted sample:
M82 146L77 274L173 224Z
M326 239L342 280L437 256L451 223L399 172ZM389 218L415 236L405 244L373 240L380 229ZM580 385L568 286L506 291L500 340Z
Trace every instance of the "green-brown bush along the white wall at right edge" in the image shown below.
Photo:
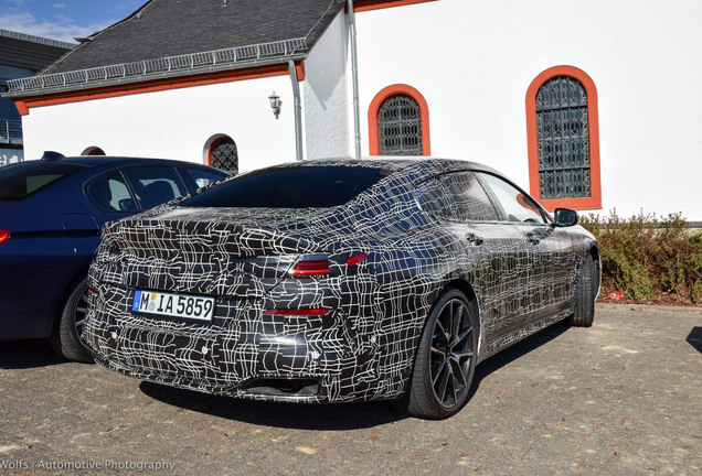
M623 219L581 217L600 246L602 296L619 292L637 302L702 304L702 232L692 232L680 214Z

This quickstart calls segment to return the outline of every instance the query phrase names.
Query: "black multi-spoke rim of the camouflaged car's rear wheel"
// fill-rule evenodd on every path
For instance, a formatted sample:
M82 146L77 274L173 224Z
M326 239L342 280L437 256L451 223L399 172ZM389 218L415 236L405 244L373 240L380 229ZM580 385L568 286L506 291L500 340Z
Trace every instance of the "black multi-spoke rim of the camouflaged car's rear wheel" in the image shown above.
M444 304L434 325L429 360L432 389L445 408L464 401L472 379L475 338L466 304L453 299Z

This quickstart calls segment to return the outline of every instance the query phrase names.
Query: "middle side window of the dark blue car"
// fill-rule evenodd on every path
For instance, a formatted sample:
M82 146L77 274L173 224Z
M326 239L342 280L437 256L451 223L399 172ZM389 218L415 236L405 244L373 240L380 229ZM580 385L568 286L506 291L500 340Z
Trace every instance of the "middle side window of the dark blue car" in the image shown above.
M150 166L125 169L141 209L153 208L188 193L173 167Z

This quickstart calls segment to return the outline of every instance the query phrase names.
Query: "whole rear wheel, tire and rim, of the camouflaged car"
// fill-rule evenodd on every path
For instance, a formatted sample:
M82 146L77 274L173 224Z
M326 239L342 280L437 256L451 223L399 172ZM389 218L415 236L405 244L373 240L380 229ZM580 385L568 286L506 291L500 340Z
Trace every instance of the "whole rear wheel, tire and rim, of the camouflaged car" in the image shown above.
M401 407L412 416L427 420L456 414L470 394L477 350L478 317L466 295L449 288L426 321Z

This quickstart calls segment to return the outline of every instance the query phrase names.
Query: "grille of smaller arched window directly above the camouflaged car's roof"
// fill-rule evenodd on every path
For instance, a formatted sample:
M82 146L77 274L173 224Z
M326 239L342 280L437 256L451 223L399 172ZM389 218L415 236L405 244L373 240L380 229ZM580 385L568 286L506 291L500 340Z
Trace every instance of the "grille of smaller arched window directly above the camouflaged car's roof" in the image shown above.
M377 110L381 155L422 155L422 110L407 95L385 99Z

